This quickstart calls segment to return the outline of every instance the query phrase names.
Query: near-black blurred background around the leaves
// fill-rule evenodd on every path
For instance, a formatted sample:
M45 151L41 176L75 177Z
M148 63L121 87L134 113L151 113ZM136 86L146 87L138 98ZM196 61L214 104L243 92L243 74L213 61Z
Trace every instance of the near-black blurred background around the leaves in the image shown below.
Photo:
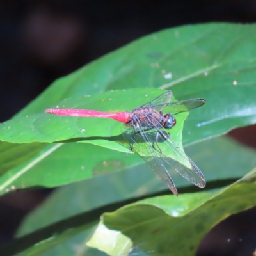
M164 28L216 21L255 22L256 1L2 1L0 122L58 77L136 38ZM230 136L256 147L255 129L253 125L236 129ZM20 191L0 198L0 243L12 238L22 218L50 192ZM198 256L253 255L255 216L256 210L250 209L214 227Z

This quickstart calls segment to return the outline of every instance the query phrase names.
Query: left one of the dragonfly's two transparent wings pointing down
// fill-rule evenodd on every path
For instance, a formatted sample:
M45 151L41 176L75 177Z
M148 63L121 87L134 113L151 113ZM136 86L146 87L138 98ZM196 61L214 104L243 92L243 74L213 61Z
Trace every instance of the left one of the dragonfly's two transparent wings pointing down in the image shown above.
M168 170L166 170L163 159L159 157L159 152L152 147L154 140L156 140L156 132L145 132L145 127L141 126L134 126L134 129L127 129L125 125L123 127L125 131L122 134L128 147L132 148L132 151L138 154L161 177L172 193L178 196L178 191Z

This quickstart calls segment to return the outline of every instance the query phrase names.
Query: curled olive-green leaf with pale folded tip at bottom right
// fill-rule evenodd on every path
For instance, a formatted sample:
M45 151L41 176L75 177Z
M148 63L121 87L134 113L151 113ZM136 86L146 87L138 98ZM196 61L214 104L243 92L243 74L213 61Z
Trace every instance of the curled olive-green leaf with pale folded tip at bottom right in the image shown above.
M127 253L140 248L153 255L168 255L170 250L173 255L195 255L198 244L214 225L256 205L255 180L256 169L216 192L184 194L179 199L148 198L105 213L88 245L109 255L117 255L117 249L124 253L124 246ZM99 243L99 239L108 239L108 244Z

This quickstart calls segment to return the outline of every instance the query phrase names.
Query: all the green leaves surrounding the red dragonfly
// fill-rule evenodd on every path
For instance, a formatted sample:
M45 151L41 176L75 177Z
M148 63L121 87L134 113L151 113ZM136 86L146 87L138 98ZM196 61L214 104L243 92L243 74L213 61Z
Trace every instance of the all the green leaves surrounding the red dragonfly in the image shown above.
M180 255L195 255L200 239L214 225L255 205L255 174L246 175L255 165L255 151L225 137L214 138L255 123L254 31L255 25L204 24L145 36L58 79L1 124L1 195L17 188L70 184L31 213L20 227L19 238L1 252L105 255L102 250L127 255L140 250L141 255L166 255L170 248L162 243L175 235L175 250L183 248ZM186 115L177 115L177 127L171 130L207 180L204 190L193 193L195 187L173 173L179 191L186 191L179 198L164 190L140 157L124 157L127 150L116 143L122 124L44 113L57 106L130 111L163 89L172 90L179 100L207 100L185 122ZM239 182L219 188L244 175ZM161 191L168 195L127 205ZM112 211L102 216L93 234L99 216ZM188 220L197 235L184 246ZM86 246L89 239L88 244L99 250Z

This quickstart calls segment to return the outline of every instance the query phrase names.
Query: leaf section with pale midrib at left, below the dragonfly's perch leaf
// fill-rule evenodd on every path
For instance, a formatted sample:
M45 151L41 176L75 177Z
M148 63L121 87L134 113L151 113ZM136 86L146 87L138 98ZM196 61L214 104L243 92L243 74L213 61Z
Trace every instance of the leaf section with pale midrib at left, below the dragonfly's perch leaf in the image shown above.
M33 144L17 145L17 147L22 146L24 151L19 152L20 154L24 153L24 158L30 157L20 164L15 162L13 147L12 150L4 152L5 159L2 159L2 166L8 164L10 157L13 159L12 164L17 163L17 166L1 175L0 194L32 186L49 188L61 186L96 175L125 170L140 162L140 159L134 154L125 157L122 152L84 143L65 143L64 145L56 143L54 147L51 144L46 147L45 144L42 144L38 154L31 157L29 150ZM37 145L37 150L40 147Z

